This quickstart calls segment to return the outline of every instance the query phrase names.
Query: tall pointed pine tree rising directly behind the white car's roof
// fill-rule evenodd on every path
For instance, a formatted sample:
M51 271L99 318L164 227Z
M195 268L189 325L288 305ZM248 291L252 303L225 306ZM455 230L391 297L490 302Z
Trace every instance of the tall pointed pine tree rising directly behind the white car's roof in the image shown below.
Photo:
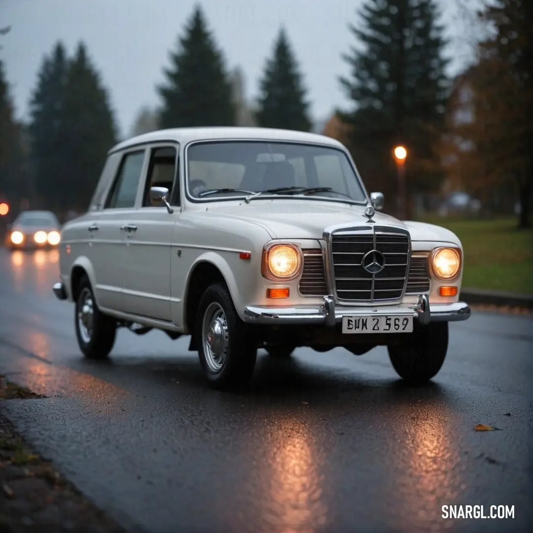
M163 99L163 128L232 126L235 108L222 52L207 27L199 6L185 26L178 50L165 69L166 85L158 87Z

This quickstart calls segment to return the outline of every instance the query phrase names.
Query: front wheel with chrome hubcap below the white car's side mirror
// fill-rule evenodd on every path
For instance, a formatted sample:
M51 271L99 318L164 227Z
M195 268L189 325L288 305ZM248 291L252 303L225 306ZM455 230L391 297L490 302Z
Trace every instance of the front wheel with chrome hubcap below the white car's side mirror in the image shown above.
M211 329L213 350L209 349L207 340L209 326L214 326ZM238 316L224 285L210 285L201 297L196 335L200 365L211 385L231 389L249 382L257 359L257 340Z

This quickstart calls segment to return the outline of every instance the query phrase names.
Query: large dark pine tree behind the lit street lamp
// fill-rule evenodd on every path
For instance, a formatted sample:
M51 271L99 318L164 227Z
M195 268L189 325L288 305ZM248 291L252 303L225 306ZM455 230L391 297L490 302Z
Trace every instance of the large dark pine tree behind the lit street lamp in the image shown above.
M351 76L341 78L354 104L344 115L354 158L373 186L394 195L392 150L401 143L408 149L408 191L435 190L442 177L437 146L448 89L447 43L437 5L434 0L367 0L360 16L362 26L350 30L363 47L344 55Z

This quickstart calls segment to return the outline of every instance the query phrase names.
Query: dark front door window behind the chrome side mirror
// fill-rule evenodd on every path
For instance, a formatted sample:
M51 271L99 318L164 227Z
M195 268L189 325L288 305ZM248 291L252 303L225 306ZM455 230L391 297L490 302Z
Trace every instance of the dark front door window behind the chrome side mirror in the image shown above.
M144 193L142 207L151 207L150 188L165 187L168 189L168 201L173 205L180 205L180 181L177 175L177 151L174 147L154 148L150 152L150 163Z

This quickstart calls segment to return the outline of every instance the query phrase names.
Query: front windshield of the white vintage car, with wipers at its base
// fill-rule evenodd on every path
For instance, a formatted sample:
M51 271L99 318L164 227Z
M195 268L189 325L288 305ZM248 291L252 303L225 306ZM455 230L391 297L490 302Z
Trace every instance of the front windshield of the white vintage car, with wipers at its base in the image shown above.
M305 195L366 202L350 160L335 148L288 142L205 142L192 144L187 158L187 185L193 198L269 191L256 197Z

